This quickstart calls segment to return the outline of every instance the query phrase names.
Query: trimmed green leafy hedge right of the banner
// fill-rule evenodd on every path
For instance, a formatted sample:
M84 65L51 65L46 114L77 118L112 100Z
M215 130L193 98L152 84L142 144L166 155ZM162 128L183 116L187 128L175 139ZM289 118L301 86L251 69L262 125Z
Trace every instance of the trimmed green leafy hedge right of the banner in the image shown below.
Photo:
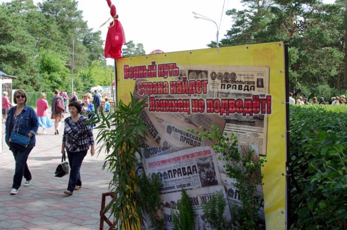
M290 106L291 229L347 229L347 106Z

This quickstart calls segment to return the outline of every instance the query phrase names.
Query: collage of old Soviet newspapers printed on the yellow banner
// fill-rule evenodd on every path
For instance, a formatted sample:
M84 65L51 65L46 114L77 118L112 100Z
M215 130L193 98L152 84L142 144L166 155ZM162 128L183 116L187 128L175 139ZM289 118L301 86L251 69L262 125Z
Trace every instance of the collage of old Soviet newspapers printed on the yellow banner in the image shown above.
M136 165L136 173L150 176L157 174L162 181L163 189L160 194L165 207L163 212L166 229L173 229L171 209L175 208L177 200L180 199L180 191L184 188L189 197L196 197L196 202L191 198L196 212L195 229L205 230L209 227L204 222L200 198L208 201L213 193L222 190L228 200L225 212L227 219L231 219L230 209L234 205L242 204L233 185L233 179L227 177L223 167L225 162L219 160L219 153L211 148L213 142L201 140L198 135L188 130L204 133L209 131L213 124L229 136L231 133L237 136L240 153L254 150L255 158L266 156L268 121L266 114L271 111L265 111L265 103L271 103L271 100L265 102L262 98L269 95L270 70L269 67L258 66L180 66L179 68L179 77L177 77L179 79L207 80L206 93L178 96L169 93L155 95L155 98L203 99L206 106L204 112L156 112L150 111L148 107L145 108L141 118L149 128L145 143L148 148L142 150L142 161ZM135 98L148 100L151 95L139 93L139 82L146 80L136 80L133 95ZM222 103L223 99L229 99L229 107L227 105L226 108L229 108L230 113L220 112L221 107L216 108L215 104L212 105L213 111L211 109L209 112L207 102L216 98ZM246 100L249 102L248 108L243 106L243 111L238 106L241 100L244 104ZM236 110L232 109L233 105L236 105ZM261 185L257 187L255 195L259 197L259 204L263 207ZM259 212L259 217L265 223L263 208ZM150 224L145 225L144 229L150 229L149 226Z

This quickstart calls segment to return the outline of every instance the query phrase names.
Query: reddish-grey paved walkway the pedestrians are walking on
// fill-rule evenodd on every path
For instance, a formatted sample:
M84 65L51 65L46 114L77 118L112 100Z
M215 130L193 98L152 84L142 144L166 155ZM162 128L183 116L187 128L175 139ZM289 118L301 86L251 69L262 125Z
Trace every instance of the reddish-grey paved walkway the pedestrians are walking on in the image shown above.
M102 170L105 155L91 156L88 152L81 167L82 188L74 191L72 196L63 194L68 175L62 178L54 176L61 160L63 125L58 136L54 135L54 128L49 129L48 134L37 135L36 147L27 161L33 179L30 186L24 187L23 178L17 195L9 194L14 159L3 141L3 153L0 153L0 229L99 229L101 194L108 192L112 175ZM94 133L96 137L96 131Z

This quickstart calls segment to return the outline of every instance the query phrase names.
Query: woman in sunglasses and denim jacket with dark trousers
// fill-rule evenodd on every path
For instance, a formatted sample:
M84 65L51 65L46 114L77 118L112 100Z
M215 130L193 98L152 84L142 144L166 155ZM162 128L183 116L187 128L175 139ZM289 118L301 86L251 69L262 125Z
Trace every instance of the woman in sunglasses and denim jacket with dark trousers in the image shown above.
M14 103L17 105L10 108L6 119L5 142L12 151L16 161L11 195L18 193L18 188L22 183L23 176L25 178L24 186L29 186L31 180L31 173L26 161L29 153L35 146L35 135L39 128L39 124L35 110L25 104L27 100L28 97L24 90L16 90L14 92ZM18 132L20 135L28 136L30 138L28 146L24 147L10 142L9 139L12 132Z

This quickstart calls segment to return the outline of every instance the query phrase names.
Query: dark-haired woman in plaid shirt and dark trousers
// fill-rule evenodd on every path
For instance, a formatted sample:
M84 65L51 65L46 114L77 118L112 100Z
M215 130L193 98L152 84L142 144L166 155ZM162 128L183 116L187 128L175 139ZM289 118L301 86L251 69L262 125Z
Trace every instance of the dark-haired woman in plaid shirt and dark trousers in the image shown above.
M88 118L80 115L81 110L81 105L77 101L71 102L69 104L71 117L64 120L61 154L64 155L66 149L71 168L69 183L64 191L67 195L72 195L73 190L78 190L82 186L79 170L89 146L90 154L94 155L95 153L93 129L90 125L85 124Z

